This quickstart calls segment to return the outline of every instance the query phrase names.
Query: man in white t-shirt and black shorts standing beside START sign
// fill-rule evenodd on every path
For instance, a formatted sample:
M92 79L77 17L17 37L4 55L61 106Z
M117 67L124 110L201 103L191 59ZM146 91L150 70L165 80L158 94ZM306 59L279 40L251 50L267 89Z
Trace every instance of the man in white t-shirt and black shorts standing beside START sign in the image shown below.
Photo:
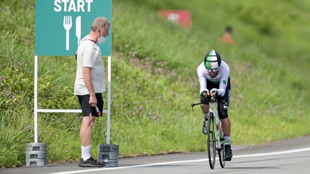
M82 125L80 140L82 157L80 167L103 167L104 165L91 157L92 129L95 117L103 110L102 92L105 87L105 68L98 43L103 43L109 35L110 22L105 17L97 17L93 21L90 33L78 45L77 75L74 94L82 108Z

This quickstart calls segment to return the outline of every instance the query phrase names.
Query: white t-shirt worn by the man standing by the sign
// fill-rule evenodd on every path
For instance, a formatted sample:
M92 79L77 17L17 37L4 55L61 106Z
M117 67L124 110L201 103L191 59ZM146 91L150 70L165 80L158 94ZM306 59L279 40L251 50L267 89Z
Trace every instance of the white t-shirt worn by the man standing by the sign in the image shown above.
M95 93L106 91L105 66L99 46L87 35L78 45L77 75L74 84L74 95L89 94L83 79L83 67L90 67L93 90Z

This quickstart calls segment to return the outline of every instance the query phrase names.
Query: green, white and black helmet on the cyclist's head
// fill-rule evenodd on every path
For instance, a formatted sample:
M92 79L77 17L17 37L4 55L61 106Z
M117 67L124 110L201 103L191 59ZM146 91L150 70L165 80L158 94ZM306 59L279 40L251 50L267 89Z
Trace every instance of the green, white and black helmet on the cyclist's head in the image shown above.
M208 72L217 72L221 66L221 55L216 50L207 52L204 57L204 66Z

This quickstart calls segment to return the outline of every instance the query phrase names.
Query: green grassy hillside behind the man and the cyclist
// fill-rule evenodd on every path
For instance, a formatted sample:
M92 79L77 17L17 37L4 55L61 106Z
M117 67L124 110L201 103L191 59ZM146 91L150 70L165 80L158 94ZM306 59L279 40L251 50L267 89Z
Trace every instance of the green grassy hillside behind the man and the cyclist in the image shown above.
M0 166L12 167L25 164L34 142L35 0L0 2ZM191 28L158 18L161 9L189 10ZM210 49L231 68L232 145L310 134L309 10L308 0L113 0L110 141L120 157L206 150L202 112L190 104L199 102L196 68ZM220 42L226 25L236 45ZM40 57L38 108L78 109L75 73L73 57ZM47 163L77 161L80 114L38 117ZM94 157L105 129L104 115Z

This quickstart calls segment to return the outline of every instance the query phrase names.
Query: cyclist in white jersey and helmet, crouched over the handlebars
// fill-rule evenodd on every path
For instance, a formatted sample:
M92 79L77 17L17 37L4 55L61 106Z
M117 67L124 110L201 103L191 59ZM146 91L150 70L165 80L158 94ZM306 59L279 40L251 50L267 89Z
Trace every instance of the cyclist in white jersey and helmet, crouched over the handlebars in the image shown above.
M216 50L207 52L204 61L197 67L201 102L205 102L208 96L213 96L217 98L217 101L227 103L226 105L218 103L217 107L224 132L225 160L231 160L233 157L230 140L231 121L228 118L228 106L231 98L229 73L230 68L226 62L221 60L221 55ZM207 134L209 103L200 106L204 114L202 133Z

